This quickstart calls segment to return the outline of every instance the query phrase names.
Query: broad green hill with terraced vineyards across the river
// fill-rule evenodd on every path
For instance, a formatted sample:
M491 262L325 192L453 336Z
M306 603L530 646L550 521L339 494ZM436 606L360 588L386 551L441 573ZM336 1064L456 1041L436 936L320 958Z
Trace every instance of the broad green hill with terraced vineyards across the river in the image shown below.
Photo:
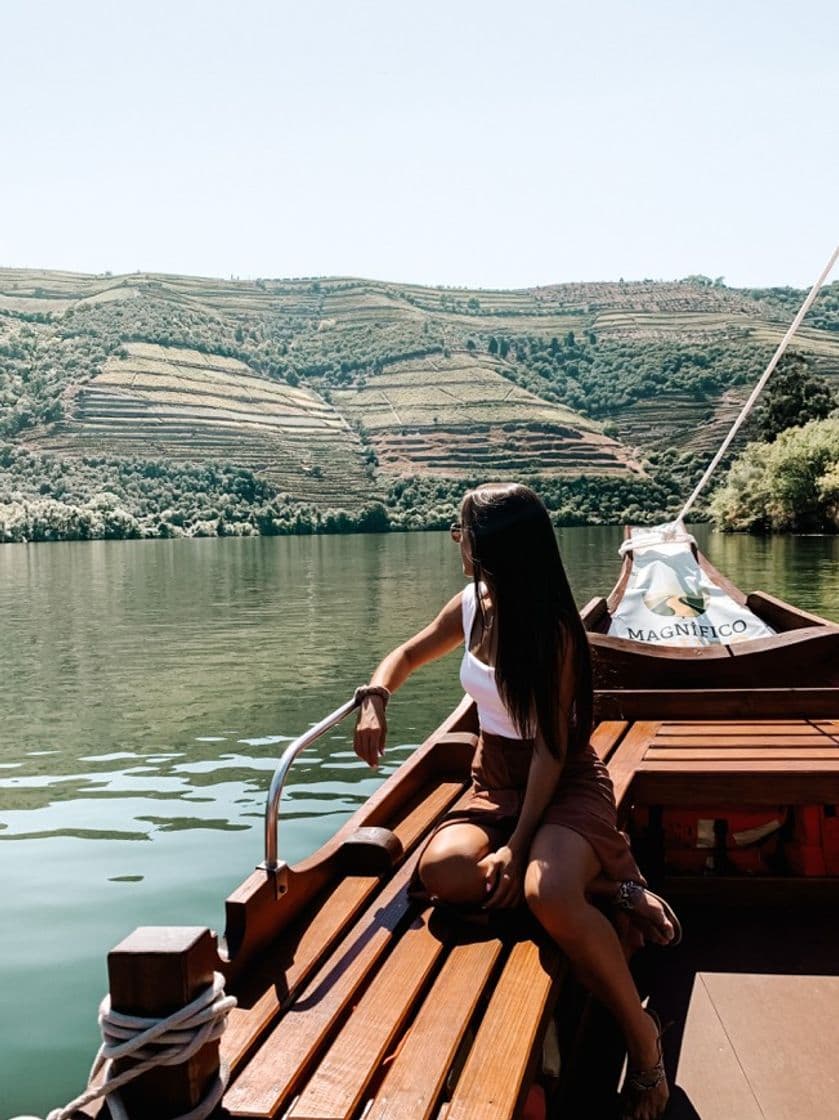
M500 475L659 515L802 298L0 269L0 539L439 524ZM795 348L839 388L839 284Z

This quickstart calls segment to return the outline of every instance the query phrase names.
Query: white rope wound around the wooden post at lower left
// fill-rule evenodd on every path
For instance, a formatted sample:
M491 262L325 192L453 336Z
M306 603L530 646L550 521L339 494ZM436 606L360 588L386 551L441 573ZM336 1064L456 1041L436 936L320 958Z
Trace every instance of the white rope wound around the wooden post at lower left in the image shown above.
M93 1061L87 1079L87 1089L63 1109L53 1109L46 1120L69 1120L74 1112L108 1096L112 1120L130 1120L119 1090L123 1085L159 1065L180 1065L197 1054L202 1046L221 1038L227 1024L227 1015L236 1006L235 997L224 995L224 977L213 973L213 983L186 1007L174 1011L165 1019L147 1019L137 1015L122 1015L111 1008L111 997L99 1008L99 1026L102 1045ZM118 1058L132 1058L134 1064L113 1073ZM96 1076L104 1071L102 1083L94 1085ZM207 1090L204 1100L192 1111L177 1120L205 1120L224 1095L230 1081L230 1068L221 1063L218 1075ZM37 1117L13 1117L12 1120L38 1120Z

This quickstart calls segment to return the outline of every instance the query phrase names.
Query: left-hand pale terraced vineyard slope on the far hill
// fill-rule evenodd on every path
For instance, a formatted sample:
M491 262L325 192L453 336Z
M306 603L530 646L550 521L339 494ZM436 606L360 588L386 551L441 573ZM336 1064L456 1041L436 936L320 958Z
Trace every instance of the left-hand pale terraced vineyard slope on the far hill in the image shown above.
M310 389L254 377L235 358L127 343L65 401L44 450L235 463L300 501L347 510L370 485L344 417Z

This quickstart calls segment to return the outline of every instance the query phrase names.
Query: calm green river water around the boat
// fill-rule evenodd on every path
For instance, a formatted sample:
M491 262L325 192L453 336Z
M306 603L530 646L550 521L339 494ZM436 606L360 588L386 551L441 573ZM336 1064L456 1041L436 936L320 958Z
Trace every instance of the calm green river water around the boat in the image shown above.
M839 619L839 538L697 535L744 590ZM621 530L559 538L578 604L608 591ZM262 858L283 744L463 582L444 533L0 549L0 1117L82 1090L108 950L136 925L223 925ZM457 663L394 697L377 773L348 726L300 758L283 858L317 848L447 715Z

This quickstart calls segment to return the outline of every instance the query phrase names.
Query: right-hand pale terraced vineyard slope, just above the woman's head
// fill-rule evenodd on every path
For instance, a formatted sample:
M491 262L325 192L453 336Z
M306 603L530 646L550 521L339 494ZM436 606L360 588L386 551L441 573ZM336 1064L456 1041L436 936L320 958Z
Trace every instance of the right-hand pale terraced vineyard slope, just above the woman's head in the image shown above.
M599 426L511 384L504 363L458 352L389 363L336 405L386 474L625 475L638 470Z

